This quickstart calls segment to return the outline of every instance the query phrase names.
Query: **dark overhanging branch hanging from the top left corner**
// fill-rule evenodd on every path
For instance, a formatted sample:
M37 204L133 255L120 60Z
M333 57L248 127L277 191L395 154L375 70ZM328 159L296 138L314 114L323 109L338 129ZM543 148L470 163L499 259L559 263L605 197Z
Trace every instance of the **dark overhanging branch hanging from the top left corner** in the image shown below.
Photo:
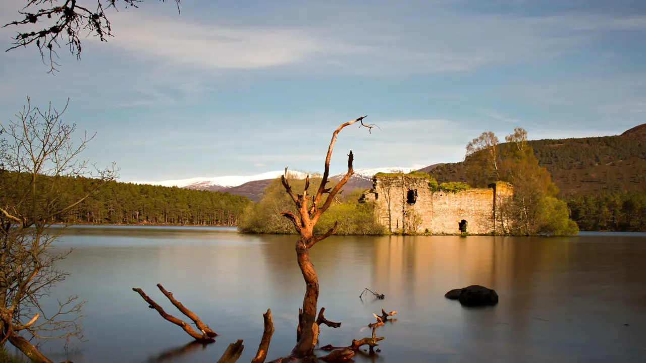
M19 26L26 29L30 24L43 23L36 28L17 32L14 43L7 51L28 45L36 45L43 63L46 57L50 62L50 72L59 66L54 59L61 43L80 59L82 36L99 37L107 41L112 36L112 28L105 12L123 5L137 7L143 0L23 0L25 7L19 12L21 19L5 26ZM161 0L165 2L166 0ZM175 0L180 10L180 1ZM34 30L35 29L35 30ZM85 34L83 34L85 33ZM46 56L47 54L47 56ZM47 64L47 63L45 63Z

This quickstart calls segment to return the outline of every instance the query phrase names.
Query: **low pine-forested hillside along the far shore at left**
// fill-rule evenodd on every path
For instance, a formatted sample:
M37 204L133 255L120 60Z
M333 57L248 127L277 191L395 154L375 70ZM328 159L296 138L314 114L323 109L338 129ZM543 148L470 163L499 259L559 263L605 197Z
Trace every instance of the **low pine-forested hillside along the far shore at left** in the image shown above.
M236 225L251 203L226 192L60 176L41 176L36 183L39 197L32 200L22 192L30 188L29 182L27 174L1 171L0 198L16 212L30 210L32 205L43 211L64 210L50 222ZM67 209L67 205L74 206Z

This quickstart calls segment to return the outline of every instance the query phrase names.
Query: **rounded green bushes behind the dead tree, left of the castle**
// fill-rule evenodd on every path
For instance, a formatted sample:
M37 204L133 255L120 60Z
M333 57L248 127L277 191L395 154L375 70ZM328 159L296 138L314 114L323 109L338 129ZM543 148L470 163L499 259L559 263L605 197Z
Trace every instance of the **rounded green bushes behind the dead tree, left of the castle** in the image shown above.
M289 184L293 191L302 191L305 186L304 180L290 180ZM320 178L312 178L307 193L315 194L318 184ZM336 234L384 234L384 227L375 218L373 203L359 203L360 194L359 189L337 194L338 202L335 201L322 214L314 233L326 233L335 222L339 222ZM324 196L322 202L325 198ZM247 207L238 230L244 233L295 234L293 224L280 211L297 213L294 202L285 192L280 180L275 180L267 186L260 202Z

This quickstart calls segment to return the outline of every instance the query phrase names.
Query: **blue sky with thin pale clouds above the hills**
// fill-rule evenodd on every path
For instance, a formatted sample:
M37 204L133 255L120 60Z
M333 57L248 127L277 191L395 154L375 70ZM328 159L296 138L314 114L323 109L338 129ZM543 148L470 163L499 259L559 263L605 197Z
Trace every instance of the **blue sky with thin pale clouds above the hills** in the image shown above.
M0 0L0 22L18 19ZM79 0L91 5L96 0ZM0 123L70 99L96 132L83 158L120 180L322 171L463 160L481 132L620 134L646 122L646 1L145 0L108 13L47 74L36 47L0 54ZM0 28L9 48L16 27Z

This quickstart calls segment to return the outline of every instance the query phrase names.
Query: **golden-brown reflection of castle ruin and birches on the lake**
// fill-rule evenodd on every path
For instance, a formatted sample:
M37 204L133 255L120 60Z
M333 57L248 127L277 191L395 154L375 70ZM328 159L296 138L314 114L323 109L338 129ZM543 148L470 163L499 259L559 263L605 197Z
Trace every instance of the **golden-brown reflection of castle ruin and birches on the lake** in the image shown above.
M375 244L373 282L379 291L406 296L411 304L437 304L446 291L466 285L485 285L498 291L504 304L497 314L466 314L475 330L490 335L494 320L512 322L510 331L522 340L531 324L528 306L536 298L535 285L556 282L554 264L567 264L569 244L533 238L494 236L390 236ZM546 273L550 272L550 273ZM552 281L545 279L552 278ZM498 316L497 316L498 315Z

